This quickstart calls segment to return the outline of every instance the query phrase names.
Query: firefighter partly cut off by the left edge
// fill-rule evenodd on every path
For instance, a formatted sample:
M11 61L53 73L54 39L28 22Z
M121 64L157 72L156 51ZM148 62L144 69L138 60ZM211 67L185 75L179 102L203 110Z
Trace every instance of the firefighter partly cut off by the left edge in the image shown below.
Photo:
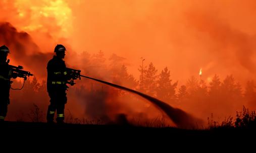
M5 45L0 47L0 121L3 122L7 115L10 104L11 78L17 78L12 74L7 60L9 48Z

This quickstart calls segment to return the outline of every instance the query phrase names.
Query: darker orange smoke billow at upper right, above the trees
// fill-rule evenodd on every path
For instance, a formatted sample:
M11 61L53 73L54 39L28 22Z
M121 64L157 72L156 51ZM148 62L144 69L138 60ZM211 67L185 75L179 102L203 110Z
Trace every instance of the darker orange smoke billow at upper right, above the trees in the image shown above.
M243 9L243 8L239 8ZM255 78L255 49L256 37L253 33L244 32L244 29L235 27L225 21L223 16L206 10L189 10L185 13L189 29L195 30L193 35L206 50L201 54L205 56L208 67L207 73L235 74L239 81L250 77ZM200 51L199 51L200 52ZM209 54L207 56L206 54ZM201 57L204 58L204 57ZM243 75L240 75L240 74ZM224 73L225 74L225 73Z

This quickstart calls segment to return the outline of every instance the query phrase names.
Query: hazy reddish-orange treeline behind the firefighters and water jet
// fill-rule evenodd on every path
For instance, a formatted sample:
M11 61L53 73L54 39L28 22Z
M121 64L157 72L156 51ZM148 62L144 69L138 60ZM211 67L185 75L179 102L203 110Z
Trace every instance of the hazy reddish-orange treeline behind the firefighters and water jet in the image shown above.
M168 67L158 70L152 62L143 67L139 66L140 76L136 79L133 74L128 72L126 59L115 54L109 58L108 62L102 51L93 55L83 52L73 56L79 58L76 59L76 62L72 62L73 58L68 59L67 63L77 64L76 67L81 68L86 75L135 89L204 119L211 116L212 113L216 117L235 115L235 111L243 105L250 109L255 109L256 106L255 83L248 81L245 89L242 90L233 75L227 75L224 80L221 80L216 74L208 84L192 76L185 84L180 85L178 81L172 80ZM120 90L111 89L89 80L77 82L78 84L68 91L68 103L84 105L86 110L84 113L89 112L89 115L95 118L97 116L107 118L109 110L114 111L113 108L117 107L117 103L115 103L115 107L112 107L108 101L110 99L113 101L116 97L125 97L123 101L130 101L131 104L138 107L144 106L138 102L140 99ZM15 81L14 85L21 87L22 82ZM27 112L25 114L28 114L33 104L36 104L45 112L48 100L46 82L38 83L36 78L33 78L26 82L23 90L11 92L13 105L9 109L13 111L13 114L17 114L20 110L24 110L23 113ZM96 110L93 111L93 109ZM70 111L72 114L72 110Z

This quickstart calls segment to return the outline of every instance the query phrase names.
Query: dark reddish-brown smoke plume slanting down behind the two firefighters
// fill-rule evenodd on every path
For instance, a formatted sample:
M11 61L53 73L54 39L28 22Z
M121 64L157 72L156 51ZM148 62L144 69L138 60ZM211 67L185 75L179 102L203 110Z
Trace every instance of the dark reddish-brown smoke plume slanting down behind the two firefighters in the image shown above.
M29 34L18 32L10 23L0 23L0 43L9 47L15 64L24 64L36 77L46 77L45 65L52 55L42 53Z

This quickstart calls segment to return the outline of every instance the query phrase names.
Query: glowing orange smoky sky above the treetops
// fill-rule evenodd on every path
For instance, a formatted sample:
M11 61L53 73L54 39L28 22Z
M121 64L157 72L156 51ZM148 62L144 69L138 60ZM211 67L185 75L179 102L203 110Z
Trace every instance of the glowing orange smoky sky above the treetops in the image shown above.
M185 0L2 1L0 20L28 32L42 52L103 50L127 59L138 78L140 57L184 83L215 73L255 79L256 2ZM181 85L181 84L179 84Z

